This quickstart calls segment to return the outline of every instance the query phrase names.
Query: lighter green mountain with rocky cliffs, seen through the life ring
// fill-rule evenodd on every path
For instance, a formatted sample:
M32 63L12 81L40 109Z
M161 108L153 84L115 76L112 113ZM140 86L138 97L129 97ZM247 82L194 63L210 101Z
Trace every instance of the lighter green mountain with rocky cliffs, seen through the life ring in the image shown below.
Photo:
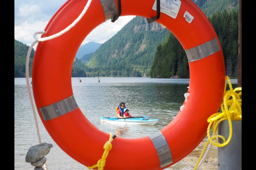
M136 16L93 53L87 77L148 77L155 49L169 32Z

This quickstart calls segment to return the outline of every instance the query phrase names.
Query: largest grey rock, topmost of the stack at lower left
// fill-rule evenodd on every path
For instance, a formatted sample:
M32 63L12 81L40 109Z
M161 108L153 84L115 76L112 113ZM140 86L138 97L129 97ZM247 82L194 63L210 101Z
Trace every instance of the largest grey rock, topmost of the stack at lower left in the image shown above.
M37 162L47 155L50 151L50 148L53 147L50 143L41 143L29 148L29 151L26 155L26 162L32 163Z

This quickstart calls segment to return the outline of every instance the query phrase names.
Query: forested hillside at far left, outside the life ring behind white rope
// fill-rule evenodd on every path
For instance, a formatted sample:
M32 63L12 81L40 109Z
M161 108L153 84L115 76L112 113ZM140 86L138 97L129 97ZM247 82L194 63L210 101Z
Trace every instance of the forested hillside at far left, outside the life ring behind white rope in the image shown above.
M14 78L26 77L26 57L29 46L14 39ZM32 73L32 64L35 50L32 49L29 60L29 76Z

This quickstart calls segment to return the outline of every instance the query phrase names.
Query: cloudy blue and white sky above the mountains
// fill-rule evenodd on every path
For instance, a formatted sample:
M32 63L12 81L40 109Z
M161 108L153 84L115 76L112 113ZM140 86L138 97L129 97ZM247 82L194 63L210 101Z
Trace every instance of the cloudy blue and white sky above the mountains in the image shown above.
M52 16L65 2L65 0L14 0L14 39L31 45L35 41L34 33L43 31ZM90 41L105 43L133 17L121 16L114 23L111 19L107 20L96 27L81 45ZM40 36L37 35L37 37Z

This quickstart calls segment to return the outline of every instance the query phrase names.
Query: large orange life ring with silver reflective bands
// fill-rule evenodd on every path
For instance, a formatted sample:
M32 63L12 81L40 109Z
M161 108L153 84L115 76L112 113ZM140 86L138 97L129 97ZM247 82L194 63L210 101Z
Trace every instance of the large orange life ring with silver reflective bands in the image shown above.
M71 71L82 41L95 27L109 19L102 7L104 1L92 1L86 14L70 31L55 39L39 42L33 62L34 99L46 130L63 151L86 166L96 164L101 158L109 135L91 124L77 106L71 86ZM152 9L155 0L121 2L121 16L152 18L156 15ZM207 118L219 110L226 82L218 37L207 17L192 1L168 2L170 4L167 5L179 8L176 17L164 13L161 6L161 15L156 22L165 25L187 53L189 98L184 102L183 110L158 133L135 139L116 137L105 169L153 170L177 163L203 140L209 125ZM86 3L85 0L67 1L50 20L42 37L65 29L79 16ZM118 6L117 0L114 5ZM125 152L123 146L126 146ZM123 158L127 155L127 162L117 159L117 156Z

